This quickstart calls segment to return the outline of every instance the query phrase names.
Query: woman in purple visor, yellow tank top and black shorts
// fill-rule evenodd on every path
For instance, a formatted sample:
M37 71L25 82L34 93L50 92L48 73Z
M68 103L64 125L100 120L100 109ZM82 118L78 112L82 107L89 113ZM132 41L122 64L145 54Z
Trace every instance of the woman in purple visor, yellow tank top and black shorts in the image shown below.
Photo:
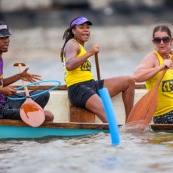
M93 45L88 51L84 44L89 40L92 22L86 17L72 20L70 27L64 32L65 43L61 50L61 60L64 62L65 81L68 87L68 97L74 106L86 108L107 123L103 103L98 90L107 88L110 97L122 92L126 119L133 107L134 79L130 76L113 77L94 80L91 73L90 57L99 52L99 45Z

